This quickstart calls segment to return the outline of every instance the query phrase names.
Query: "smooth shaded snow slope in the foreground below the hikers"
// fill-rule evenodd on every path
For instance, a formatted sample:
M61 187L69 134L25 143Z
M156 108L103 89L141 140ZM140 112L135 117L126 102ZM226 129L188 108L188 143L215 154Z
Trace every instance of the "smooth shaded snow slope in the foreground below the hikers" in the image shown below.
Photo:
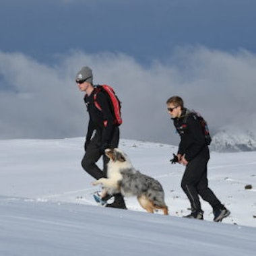
M253 255L256 229L1 197L3 256Z

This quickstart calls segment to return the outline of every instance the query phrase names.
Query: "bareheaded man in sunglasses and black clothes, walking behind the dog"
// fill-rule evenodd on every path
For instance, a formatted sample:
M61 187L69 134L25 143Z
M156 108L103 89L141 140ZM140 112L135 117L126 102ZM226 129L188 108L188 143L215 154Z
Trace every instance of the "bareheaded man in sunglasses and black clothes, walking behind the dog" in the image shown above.
M230 215L230 211L224 207L214 192L208 187L207 162L210 152L205 141L205 135L201 123L196 115L184 107L183 99L172 96L166 101L167 110L173 120L174 127L181 137L177 156L173 162L179 162L185 166L185 172L181 180L181 187L191 204L191 214L185 218L203 220L201 210L201 198L213 208L214 221L220 222Z

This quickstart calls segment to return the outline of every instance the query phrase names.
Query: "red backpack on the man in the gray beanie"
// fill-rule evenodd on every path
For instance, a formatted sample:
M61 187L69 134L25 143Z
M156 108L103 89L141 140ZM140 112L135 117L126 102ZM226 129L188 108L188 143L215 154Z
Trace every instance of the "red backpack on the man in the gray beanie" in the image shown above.
M115 94L115 91L112 87L107 86L106 84L94 86L96 88L96 92L94 93L94 104L96 108L98 108L100 111L102 110L100 104L97 102L97 94L98 92L103 92L110 102L111 112L113 116L115 117L115 123L117 125L121 125L123 123L122 117L121 117L121 101Z

